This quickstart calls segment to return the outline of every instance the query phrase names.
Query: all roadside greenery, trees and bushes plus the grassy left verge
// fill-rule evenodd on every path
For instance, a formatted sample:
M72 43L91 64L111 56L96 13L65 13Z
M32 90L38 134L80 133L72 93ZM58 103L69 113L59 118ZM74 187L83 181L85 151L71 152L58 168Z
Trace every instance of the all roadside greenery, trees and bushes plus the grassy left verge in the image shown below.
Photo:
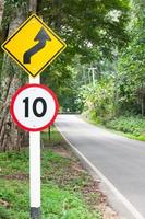
M144 0L1 0L0 44L36 13L68 45L41 73L61 112L145 140ZM28 135L10 116L27 74L0 49L0 219L28 218ZM106 198L56 130L43 134L43 219L100 219ZM49 146L49 147L48 147ZM101 214L100 214L101 212ZM108 219L109 216L104 218Z

